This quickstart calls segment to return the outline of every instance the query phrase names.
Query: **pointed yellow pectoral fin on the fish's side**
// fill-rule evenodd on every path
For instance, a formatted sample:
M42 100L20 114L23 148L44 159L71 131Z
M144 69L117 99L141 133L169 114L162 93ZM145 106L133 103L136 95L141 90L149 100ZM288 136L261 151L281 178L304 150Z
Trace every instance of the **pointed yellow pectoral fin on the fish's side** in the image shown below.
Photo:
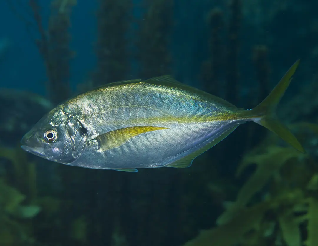
M156 126L126 127L126 128L121 128L121 129L106 132L96 137L95 140L99 143L100 150L106 151L106 150L121 146L122 144L126 143L129 139L139 134L142 134L148 131L163 130L163 129L168 129L168 128L156 127Z

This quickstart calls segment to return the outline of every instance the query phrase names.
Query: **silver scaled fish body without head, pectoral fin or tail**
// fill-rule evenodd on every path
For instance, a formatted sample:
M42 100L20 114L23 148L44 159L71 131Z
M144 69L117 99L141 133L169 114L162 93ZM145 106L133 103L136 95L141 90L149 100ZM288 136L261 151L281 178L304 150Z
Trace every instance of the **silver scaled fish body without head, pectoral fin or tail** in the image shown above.
M75 116L88 135L79 157L66 164L97 169L169 165L246 121L218 120L233 113L228 107L230 104L222 102L184 89L144 82L110 86L79 95L59 107ZM106 132L133 126L168 129L139 134L104 151L92 142Z

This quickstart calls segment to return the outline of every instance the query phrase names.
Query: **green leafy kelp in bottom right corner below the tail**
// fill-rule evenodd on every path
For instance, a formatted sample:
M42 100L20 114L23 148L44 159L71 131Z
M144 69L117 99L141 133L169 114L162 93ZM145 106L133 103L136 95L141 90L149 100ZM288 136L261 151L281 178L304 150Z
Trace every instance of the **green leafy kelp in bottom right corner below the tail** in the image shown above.
M243 157L236 176L249 165L256 170L237 193L226 202L217 226L203 230L187 242L192 245L316 245L318 125L292 126L296 136L312 136L306 142L315 151L302 154L289 147L273 145L278 138L268 136ZM307 136L309 136L307 135ZM307 138L308 139L308 138ZM260 195L261 194L261 195Z

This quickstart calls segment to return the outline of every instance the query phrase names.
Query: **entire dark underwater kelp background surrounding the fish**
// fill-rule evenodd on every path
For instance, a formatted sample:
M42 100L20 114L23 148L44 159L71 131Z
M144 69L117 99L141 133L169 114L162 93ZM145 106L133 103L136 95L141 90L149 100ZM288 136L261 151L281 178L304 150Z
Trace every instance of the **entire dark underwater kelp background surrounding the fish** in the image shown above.
M0 246L317 246L318 2L0 1ZM301 63L278 108L306 154L246 123L189 168L93 170L26 153L46 112L172 74L239 108Z

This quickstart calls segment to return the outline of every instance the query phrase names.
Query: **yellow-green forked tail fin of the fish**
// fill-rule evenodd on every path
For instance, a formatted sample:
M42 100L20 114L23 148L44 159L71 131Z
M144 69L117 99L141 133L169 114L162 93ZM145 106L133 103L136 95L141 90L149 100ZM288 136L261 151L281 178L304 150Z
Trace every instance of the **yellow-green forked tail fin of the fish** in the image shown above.
M284 141L292 145L298 151L305 153L304 148L298 142L297 138L290 132L290 130L282 124L276 117L276 107L284 95L287 87L290 84L291 78L296 71L300 60L297 60L291 66L286 74L282 77L276 87L271 93L252 110L245 111L249 116L255 116L253 121L266 127L272 132L276 133Z

